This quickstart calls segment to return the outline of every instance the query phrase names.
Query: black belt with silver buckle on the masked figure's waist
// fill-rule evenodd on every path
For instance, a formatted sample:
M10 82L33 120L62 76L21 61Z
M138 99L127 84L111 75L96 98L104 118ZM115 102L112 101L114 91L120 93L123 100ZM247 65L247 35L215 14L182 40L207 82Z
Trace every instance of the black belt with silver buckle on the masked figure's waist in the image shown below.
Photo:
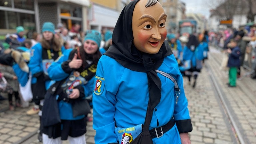
M154 128L154 129L151 129L149 130L149 133L151 135L151 138L160 138L164 135L164 133L166 133L167 131L169 131L173 126L174 126L175 122L174 122L174 119L171 118L171 120L163 125L163 126L160 126L158 128Z

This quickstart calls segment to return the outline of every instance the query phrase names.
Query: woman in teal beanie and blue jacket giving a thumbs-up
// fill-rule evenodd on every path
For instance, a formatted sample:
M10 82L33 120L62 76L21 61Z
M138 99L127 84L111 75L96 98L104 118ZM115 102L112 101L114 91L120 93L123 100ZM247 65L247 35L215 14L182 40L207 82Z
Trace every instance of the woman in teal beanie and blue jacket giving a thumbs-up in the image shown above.
M82 46L77 49L67 49L48 68L49 77L56 81L55 84L60 83L60 86L56 87L53 84L47 93L56 91L58 95L61 122L43 127L44 144L59 144L61 140L67 139L70 144L86 144L84 134L86 133L87 114L74 115L73 106L84 99L89 103L92 102L94 77L101 57L100 41L100 32L88 30ZM44 105L49 105L50 102L47 102L45 100ZM92 107L92 104L90 106ZM45 110L47 108L49 107L44 107L43 118L54 115L47 113Z

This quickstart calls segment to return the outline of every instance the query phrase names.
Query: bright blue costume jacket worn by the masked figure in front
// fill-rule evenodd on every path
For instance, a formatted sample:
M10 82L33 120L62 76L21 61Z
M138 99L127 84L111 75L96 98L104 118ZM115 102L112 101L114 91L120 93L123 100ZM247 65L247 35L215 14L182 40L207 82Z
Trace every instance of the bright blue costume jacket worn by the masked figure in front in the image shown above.
M165 57L158 70L172 75L177 80L180 97L178 104L175 104L174 83L157 73L162 82L162 97L153 111L150 129L165 125L172 117L174 117L176 124L161 138L152 140L154 144L181 144L178 127L183 126L182 129L186 131L190 116L183 89L183 78L174 55ZM149 100L146 73L132 71L123 67L113 58L103 55L97 66L94 86L93 117L95 119L93 128L96 130L95 143L116 143L118 138L114 132L115 126L127 128L144 124ZM177 121L184 123L180 125Z

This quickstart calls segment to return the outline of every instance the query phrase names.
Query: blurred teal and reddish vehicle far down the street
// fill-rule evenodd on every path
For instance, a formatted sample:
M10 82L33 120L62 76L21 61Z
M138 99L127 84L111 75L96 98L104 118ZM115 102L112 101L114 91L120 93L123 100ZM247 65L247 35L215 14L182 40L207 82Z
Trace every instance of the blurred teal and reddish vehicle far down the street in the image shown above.
M184 34L193 34L197 32L197 22L194 19L184 19L179 21L179 33L180 35Z

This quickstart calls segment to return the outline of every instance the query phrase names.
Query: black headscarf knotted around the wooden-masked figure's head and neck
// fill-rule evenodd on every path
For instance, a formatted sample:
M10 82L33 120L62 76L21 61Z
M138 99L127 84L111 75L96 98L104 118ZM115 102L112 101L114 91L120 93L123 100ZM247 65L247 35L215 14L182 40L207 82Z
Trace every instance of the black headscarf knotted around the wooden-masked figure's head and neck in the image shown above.
M130 2L122 10L113 31L112 46L104 54L130 70L147 73L151 109L154 109L161 99L161 81L155 70L162 64L164 57L172 54L172 50L164 43L157 54L147 54L134 46L132 15L138 1Z

